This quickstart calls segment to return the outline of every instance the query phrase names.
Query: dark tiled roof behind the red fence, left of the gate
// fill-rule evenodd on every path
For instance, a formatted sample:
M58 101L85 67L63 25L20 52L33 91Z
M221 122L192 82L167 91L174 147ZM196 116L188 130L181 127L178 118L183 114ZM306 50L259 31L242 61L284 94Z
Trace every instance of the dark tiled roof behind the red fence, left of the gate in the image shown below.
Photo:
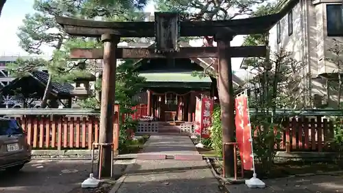
M47 80L49 80L49 73L45 73L43 71L34 71L31 73L33 78L42 82L43 84L47 84ZM71 91L73 91L73 85L69 83L59 83L59 82L52 82L52 92L58 95L70 95Z

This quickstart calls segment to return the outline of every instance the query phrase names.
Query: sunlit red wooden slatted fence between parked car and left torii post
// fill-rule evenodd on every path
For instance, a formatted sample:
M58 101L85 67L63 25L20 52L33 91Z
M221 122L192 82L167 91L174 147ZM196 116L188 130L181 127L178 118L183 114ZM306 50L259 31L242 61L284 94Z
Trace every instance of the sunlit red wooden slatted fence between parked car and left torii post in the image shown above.
M27 133L27 143L36 149L91 149L99 139L97 117L16 118ZM117 118L113 122L113 139L119 130Z

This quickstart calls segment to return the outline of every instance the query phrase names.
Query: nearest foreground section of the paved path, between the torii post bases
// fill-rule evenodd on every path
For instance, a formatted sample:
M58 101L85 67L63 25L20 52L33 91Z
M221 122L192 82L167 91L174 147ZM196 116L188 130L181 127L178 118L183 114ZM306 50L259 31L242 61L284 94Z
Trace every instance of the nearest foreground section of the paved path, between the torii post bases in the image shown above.
M205 161L137 160L117 193L219 193Z

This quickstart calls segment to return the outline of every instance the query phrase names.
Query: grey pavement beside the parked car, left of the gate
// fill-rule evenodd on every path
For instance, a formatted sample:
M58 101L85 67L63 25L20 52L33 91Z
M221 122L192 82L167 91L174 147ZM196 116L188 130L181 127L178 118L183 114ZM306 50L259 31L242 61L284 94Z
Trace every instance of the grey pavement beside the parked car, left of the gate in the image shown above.
M115 162L115 174L126 168ZM0 173L1 193L67 193L80 188L89 176L91 161L34 160L16 174Z

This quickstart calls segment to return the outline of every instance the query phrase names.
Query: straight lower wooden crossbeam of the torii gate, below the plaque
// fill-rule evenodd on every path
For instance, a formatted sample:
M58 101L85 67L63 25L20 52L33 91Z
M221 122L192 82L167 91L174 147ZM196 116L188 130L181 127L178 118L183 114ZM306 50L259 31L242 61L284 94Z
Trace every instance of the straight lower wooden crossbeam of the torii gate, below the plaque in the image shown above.
M230 47L230 56L236 58L265 56L265 46ZM71 59L102 59L102 49L72 49ZM117 48L117 58L217 58L217 47L180 47L179 52L157 54L154 47Z

